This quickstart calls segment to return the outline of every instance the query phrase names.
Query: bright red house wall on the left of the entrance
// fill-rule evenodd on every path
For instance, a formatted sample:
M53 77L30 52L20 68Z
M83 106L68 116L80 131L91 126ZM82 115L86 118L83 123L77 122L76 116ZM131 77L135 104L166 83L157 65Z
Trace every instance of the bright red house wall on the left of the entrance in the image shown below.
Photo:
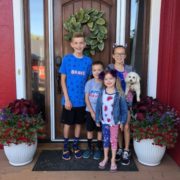
M12 0L0 0L0 108L16 98Z

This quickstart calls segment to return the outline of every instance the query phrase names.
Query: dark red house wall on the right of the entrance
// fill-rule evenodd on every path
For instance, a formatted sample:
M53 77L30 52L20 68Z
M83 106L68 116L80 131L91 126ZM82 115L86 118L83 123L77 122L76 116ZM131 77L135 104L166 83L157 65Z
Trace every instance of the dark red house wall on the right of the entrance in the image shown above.
M180 112L180 1L163 0L161 8L157 98ZM175 148L169 150L180 165L179 152L180 135Z

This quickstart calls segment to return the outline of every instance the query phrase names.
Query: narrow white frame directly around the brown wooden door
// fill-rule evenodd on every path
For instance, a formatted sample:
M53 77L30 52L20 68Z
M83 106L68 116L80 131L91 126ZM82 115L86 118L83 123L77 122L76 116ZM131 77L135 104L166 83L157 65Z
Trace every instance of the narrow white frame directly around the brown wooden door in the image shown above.
M62 141L55 137L55 107L54 107L54 55L53 55L53 2L48 1L48 17L49 17L49 55L50 55L50 104L51 104L51 141ZM117 18L116 18L116 43L125 44L125 21L126 21L126 0L117 0ZM86 139L81 139L86 141Z

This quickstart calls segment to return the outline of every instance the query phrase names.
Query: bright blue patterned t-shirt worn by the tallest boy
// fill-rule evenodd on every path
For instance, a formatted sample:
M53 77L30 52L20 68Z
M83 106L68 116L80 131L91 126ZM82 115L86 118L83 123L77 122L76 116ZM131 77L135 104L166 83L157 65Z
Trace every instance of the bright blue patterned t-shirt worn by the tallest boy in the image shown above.
M87 56L78 58L67 54L63 57L59 72L66 75L67 92L73 107L85 106L84 88L91 74L91 65L92 60ZM61 102L65 104L64 96Z

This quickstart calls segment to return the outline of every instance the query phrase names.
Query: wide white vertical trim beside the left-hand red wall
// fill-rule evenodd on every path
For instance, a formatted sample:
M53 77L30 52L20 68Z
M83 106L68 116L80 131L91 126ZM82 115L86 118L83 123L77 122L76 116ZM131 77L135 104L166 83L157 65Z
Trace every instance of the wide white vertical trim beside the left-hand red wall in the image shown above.
M26 98L23 0L13 0L16 98Z

